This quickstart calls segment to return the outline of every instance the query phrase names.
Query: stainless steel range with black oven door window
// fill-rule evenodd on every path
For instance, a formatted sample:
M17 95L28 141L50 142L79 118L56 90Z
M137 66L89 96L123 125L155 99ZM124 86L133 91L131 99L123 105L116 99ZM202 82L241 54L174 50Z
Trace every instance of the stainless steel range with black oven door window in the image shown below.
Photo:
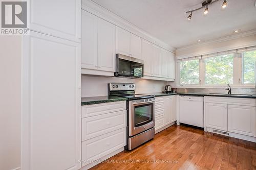
M135 94L134 83L109 83L109 95L127 98L127 150L154 138L154 95Z

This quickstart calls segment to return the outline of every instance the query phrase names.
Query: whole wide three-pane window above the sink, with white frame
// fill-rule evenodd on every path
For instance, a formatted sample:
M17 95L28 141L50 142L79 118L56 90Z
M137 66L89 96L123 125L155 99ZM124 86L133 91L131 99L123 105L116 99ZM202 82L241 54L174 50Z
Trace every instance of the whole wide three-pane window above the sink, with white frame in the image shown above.
M177 86L255 86L256 46L177 57Z

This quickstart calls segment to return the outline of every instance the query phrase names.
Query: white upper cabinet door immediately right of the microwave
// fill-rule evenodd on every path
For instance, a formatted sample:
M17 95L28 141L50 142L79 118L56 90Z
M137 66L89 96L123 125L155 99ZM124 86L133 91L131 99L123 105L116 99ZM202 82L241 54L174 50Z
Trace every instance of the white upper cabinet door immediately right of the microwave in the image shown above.
M151 42L142 40L142 59L144 60L144 75L152 76L153 45Z

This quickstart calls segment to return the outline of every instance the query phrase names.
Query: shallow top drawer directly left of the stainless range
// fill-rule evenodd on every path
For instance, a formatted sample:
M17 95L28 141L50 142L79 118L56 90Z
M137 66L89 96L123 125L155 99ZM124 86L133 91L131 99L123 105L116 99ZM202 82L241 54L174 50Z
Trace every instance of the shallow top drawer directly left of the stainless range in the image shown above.
M101 103L95 105L84 105L81 108L81 116L90 117L105 113L116 112L120 110L126 110L126 101Z

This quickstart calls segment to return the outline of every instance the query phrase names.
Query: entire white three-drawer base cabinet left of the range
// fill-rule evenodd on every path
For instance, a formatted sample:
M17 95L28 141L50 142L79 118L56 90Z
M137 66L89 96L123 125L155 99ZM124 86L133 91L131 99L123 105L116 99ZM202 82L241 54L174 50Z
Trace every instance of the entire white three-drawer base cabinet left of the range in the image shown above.
M126 101L84 105L81 112L81 164L88 169L124 150Z

